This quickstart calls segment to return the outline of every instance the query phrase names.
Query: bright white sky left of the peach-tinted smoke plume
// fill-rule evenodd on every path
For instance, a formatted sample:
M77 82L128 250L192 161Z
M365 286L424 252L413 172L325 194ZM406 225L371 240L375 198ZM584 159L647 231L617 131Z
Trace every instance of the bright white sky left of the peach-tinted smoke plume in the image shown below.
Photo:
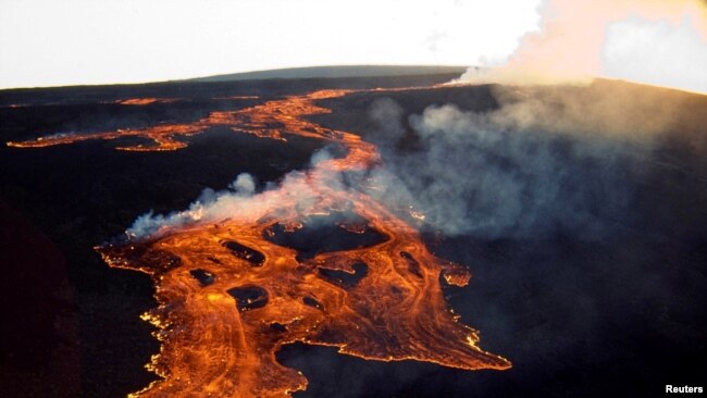
M0 0L0 88L499 63L539 0Z

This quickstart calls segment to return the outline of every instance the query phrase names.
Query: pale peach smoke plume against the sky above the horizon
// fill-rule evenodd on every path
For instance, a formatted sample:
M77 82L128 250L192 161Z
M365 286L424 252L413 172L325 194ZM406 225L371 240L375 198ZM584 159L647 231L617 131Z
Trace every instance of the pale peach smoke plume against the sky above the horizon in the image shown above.
M586 84L612 77L707 92L707 5L698 0L546 0L539 33L504 65L460 82Z

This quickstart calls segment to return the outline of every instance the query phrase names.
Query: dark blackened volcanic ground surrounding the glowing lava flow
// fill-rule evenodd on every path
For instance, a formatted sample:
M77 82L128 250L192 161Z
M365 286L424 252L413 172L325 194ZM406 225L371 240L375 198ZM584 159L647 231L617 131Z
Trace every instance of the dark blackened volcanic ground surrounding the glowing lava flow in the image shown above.
M188 122L209 111L318 88L427 86L452 77L5 90L0 91L0 140ZM410 117L447 103L485 114L521 101L523 95L556 99L560 91L563 100L579 98L584 104L607 92L621 94L623 99L613 104L619 111L607 116L610 126L599 123L599 128L624 122L617 115L625 107L621 101L630 101L628 108L638 116L620 132L592 138L591 148L608 150L587 157L578 154L586 149L586 136L545 134L545 121L531 126L523 136L528 138L511 134L484 147L464 138L454 145L426 141ZM214 99L228 96L259 98ZM321 101L334 112L311 117L375 142L400 184L419 194L415 204L435 204L424 194L434 181L443 182L451 190L449 197L435 195L436 204L444 209L460 200L463 215L480 220L481 210L504 212L507 198L476 206L496 188L466 189L464 182L486 175L492 183L520 178L521 215L511 219L521 221L448 232L444 216L434 219L431 209L432 220L420 224L437 256L469 266L473 275L469 286L447 289L450 307L481 331L480 347L508 358L513 368L463 372L410 361L364 361L333 349L293 345L278 359L308 377L308 390L297 396L647 397L662 396L666 384L705 385L707 97L604 80L587 88L528 88L519 96L508 100L497 86L364 91ZM183 100L109 103L140 97ZM562 109L565 102L553 107ZM383 108L395 111L380 116ZM670 122L652 133L649 144L635 139L655 127L641 115L661 109L671 110ZM598 116L586 113L587 119ZM597 125L578 120L581 130ZM156 376L144 364L159 350L152 327L139 319L154 306L151 283L146 275L109 269L92 247L123 234L138 215L185 209L202 189L223 189L239 173L252 174L262 188L292 170L306 169L324 146L296 137L284 144L226 128L178 139L189 146L172 152L115 151L124 144L120 140L0 147L0 395L120 397L145 387ZM536 163L528 159L537 157L509 152L513 142L522 148L539 142L553 166L533 169ZM445 150L444 173L433 167L438 158L430 156L430 148ZM469 163L477 158L488 169ZM417 191L422 177L425 189ZM537 191L546 186L556 188L557 196L539 198Z

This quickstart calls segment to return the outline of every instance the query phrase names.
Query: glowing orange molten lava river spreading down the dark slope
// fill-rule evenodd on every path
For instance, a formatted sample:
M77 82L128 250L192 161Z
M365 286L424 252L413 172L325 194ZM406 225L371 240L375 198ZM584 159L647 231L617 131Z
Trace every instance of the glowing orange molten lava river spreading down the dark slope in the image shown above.
M307 378L277 363L275 353L295 341L367 360L510 368L476 346L476 332L445 301L441 276L463 286L467 269L434 257L414 227L365 189L340 183L343 173L384 166L376 148L302 116L331 112L315 100L348 92L292 96L186 125L8 142L44 147L141 136L156 145L119 149L174 150L187 145L177 135L225 125L346 149L343 158L288 174L276 188L236 198L227 214L194 208L179 213L184 222L164 223L147 237L97 247L110 266L145 272L156 285L159 307L144 319L159 328L161 350L148 368L161 380L136 396L288 396L306 389Z

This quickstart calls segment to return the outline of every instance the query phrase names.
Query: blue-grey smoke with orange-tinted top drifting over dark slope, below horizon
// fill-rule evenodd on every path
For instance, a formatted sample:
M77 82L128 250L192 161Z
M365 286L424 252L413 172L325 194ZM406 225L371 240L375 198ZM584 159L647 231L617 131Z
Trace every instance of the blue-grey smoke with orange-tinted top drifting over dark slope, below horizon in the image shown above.
M678 167L660 153L675 142L707 150L695 113L704 102L689 104L697 96L607 80L491 95L497 108L484 112L444 104L410 115L373 102L387 189L372 195L422 210L446 235L603 239L634 225L636 190L655 167Z

